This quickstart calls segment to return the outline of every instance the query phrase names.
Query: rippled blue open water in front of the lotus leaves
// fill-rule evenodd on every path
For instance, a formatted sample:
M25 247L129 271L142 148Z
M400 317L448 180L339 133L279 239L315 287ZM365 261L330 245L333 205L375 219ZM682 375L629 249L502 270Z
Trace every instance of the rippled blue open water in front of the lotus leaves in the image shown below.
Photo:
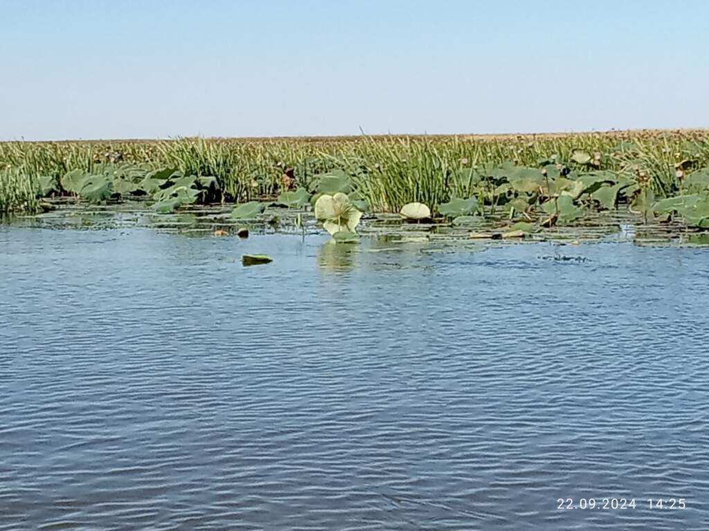
M707 251L325 241L0 227L0 530L709 528Z

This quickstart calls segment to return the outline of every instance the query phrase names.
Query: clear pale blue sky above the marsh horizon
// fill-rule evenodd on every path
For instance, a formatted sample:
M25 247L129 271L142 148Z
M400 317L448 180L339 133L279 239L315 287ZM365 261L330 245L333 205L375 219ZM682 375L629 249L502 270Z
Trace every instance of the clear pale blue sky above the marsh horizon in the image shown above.
M704 0L0 0L0 140L709 127Z

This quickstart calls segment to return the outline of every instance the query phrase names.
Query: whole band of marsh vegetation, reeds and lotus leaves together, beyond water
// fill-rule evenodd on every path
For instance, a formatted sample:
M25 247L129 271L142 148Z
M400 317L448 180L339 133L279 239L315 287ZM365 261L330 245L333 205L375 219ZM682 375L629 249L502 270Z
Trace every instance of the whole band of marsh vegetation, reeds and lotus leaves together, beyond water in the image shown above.
M503 216L536 229L623 209L639 222L709 229L709 134L0 144L0 212L65 196L142 198L158 213L235 202L234 219L256 219L267 204L313 209L338 241L356 239L364 212L454 226Z

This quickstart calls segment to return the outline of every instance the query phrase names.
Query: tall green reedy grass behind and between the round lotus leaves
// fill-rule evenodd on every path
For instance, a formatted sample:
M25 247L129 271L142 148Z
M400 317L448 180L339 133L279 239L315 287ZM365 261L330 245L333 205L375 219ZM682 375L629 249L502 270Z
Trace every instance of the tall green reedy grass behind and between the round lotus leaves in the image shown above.
M115 142L0 143L0 210L36 210L40 176L91 171L116 160L175 166L185 175L216 176L227 201L274 198L283 169L295 169L308 187L318 173L343 169L374 210L396 211L406 202L434 208L452 197L479 192L459 170L513 161L539 167L576 150L599 158L591 169L649 177L658 196L681 188L678 169L709 166L709 132L647 131L502 137L342 137L200 139Z

